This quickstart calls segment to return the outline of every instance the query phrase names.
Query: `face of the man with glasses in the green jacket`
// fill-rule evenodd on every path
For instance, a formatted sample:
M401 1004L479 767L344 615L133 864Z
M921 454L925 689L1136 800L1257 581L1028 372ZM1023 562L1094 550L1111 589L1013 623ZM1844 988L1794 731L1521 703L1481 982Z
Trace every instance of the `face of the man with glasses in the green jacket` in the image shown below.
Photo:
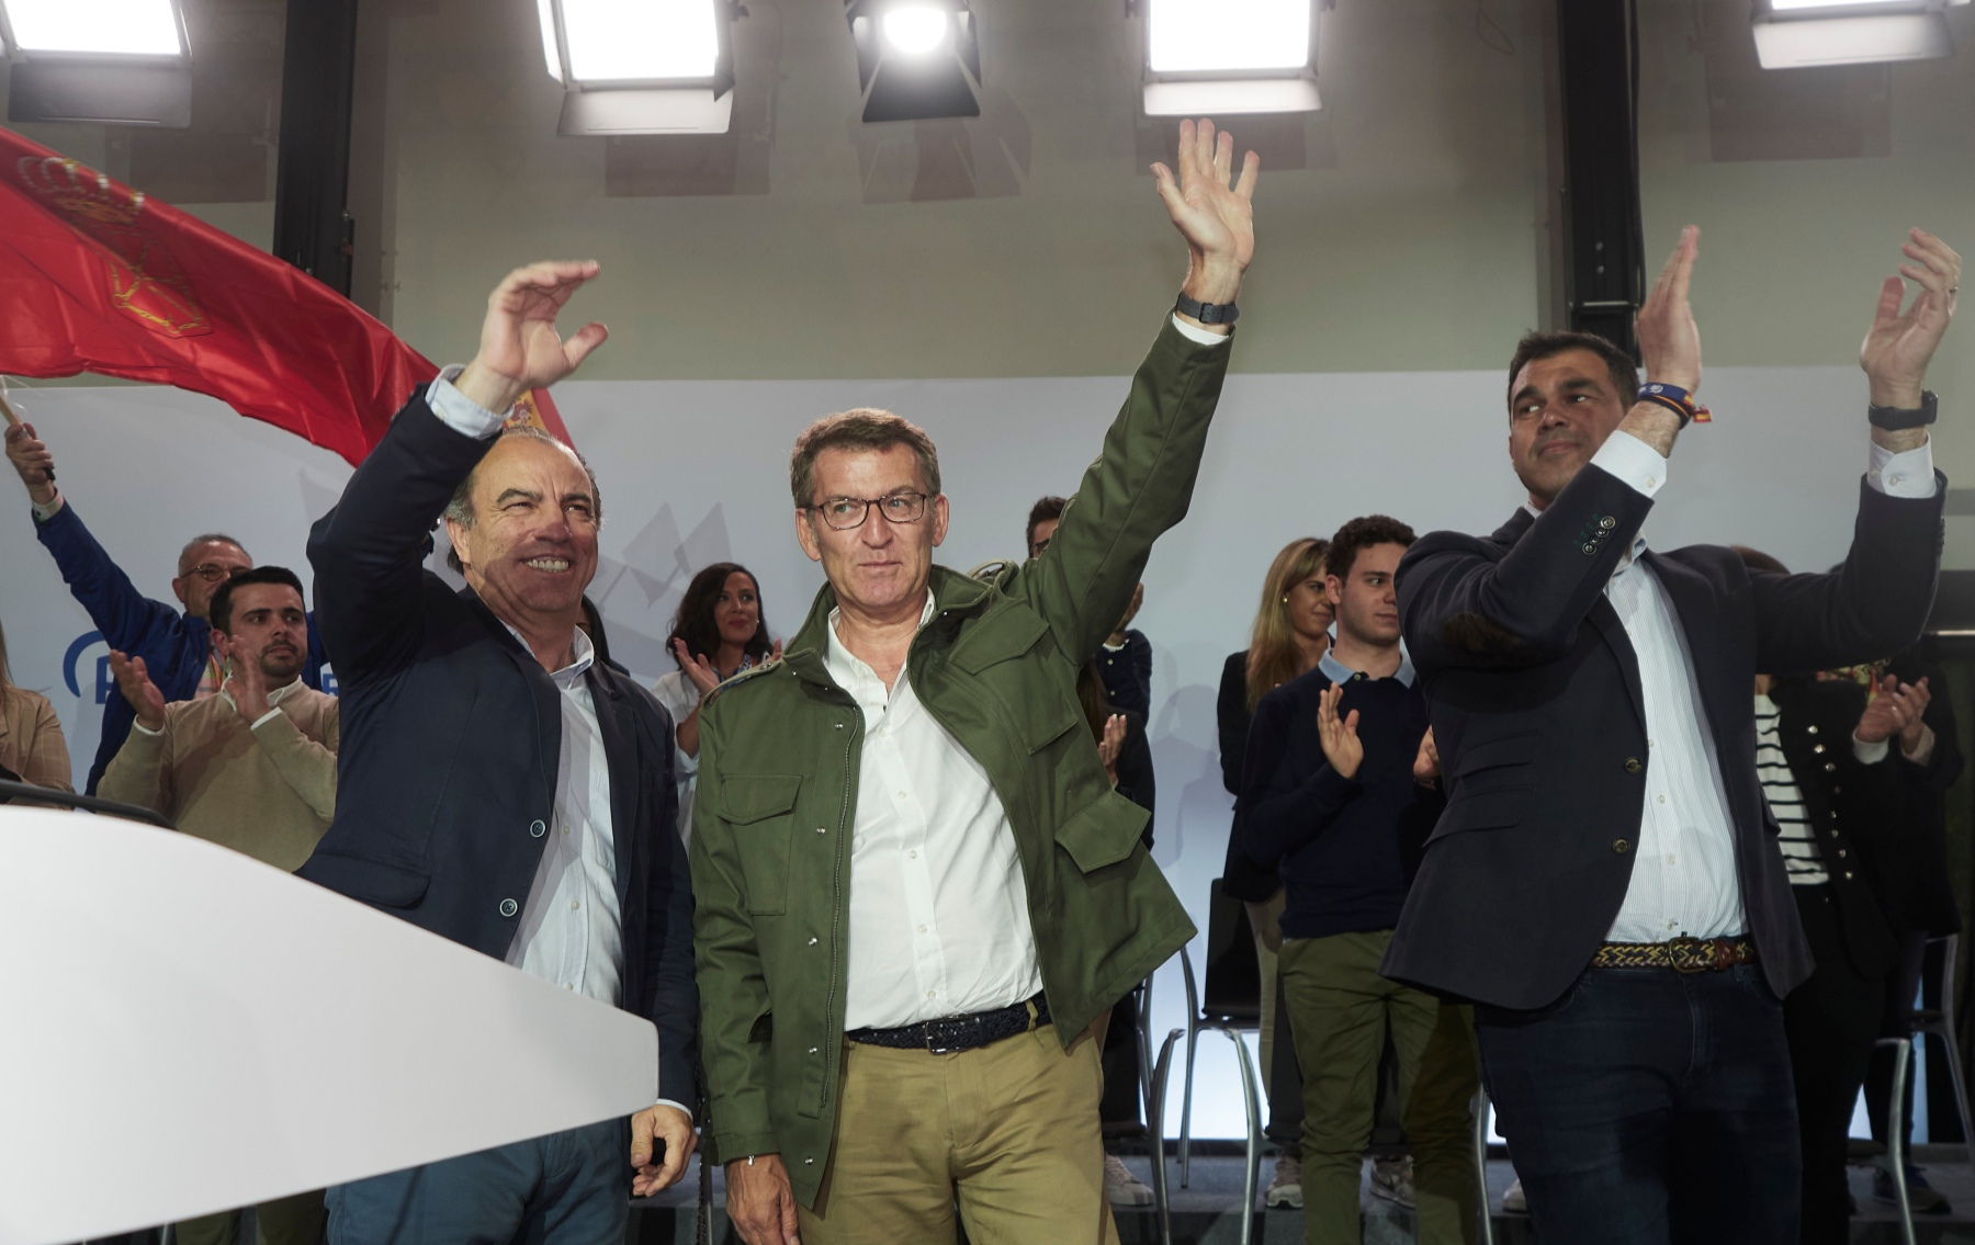
M824 450L816 456L810 505L831 497L871 501L924 493L918 456L907 444L885 450ZM867 507L861 525L837 531L816 509L796 511L802 552L824 564L837 604L873 620L889 620L924 604L932 550L946 539L946 497L932 497L916 523L893 523Z

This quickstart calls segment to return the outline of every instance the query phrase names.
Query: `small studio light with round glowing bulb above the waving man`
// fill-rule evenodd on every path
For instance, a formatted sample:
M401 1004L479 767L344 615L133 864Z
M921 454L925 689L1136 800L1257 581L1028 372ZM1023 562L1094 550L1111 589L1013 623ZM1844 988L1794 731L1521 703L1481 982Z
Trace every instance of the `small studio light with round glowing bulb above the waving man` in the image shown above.
M968 0L845 0L865 120L980 116L982 47Z

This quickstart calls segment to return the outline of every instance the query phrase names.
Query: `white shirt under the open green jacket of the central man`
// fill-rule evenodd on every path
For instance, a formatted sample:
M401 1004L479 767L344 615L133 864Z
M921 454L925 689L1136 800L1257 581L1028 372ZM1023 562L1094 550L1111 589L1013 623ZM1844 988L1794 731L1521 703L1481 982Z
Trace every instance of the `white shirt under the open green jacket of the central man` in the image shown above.
M837 639L826 665L863 710L843 1028L986 1012L1043 989L1015 829L988 771L901 669L887 691ZM932 594L918 625L932 618Z

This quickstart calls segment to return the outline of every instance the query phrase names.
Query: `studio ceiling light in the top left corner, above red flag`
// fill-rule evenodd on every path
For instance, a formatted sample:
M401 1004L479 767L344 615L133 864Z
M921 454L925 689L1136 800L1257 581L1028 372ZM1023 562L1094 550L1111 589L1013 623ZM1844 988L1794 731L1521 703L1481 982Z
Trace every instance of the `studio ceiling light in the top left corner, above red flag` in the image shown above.
M0 0L8 120L192 124L180 0Z

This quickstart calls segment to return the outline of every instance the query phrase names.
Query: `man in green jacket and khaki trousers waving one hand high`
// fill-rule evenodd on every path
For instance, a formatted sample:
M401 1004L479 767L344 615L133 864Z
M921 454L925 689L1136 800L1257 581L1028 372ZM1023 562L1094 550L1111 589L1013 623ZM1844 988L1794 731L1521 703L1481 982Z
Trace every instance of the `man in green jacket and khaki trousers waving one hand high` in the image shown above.
M749 1245L952 1241L956 1200L976 1245L1116 1239L1092 1026L1193 923L1074 685L1193 495L1254 253L1232 164L1183 122L1153 166L1191 268L1043 556L934 566L938 456L895 414L796 442L830 582L707 698L693 811L707 1144Z

